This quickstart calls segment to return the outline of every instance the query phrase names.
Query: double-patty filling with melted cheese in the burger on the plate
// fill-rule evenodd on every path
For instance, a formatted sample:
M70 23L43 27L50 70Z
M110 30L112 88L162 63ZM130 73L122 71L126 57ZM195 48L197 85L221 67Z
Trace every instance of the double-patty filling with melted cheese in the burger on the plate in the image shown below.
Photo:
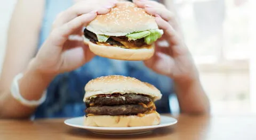
M156 110L153 99L142 94L102 94L85 102L86 116L92 115L138 115Z

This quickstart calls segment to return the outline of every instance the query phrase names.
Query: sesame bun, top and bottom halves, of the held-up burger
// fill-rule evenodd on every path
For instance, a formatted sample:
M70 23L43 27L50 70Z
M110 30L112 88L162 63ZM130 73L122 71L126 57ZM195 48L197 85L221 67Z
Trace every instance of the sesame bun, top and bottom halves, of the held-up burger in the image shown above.
M109 13L98 15L87 25L86 29L95 34L119 37L132 32L158 29L158 25L154 16L149 15L134 3L119 2L114 8L111 8ZM137 47L127 41L126 45L123 43L126 48L123 48L105 44L99 45L86 38L84 38L84 42L95 55L110 59L147 60L154 55L155 51L154 44L147 45L147 47Z

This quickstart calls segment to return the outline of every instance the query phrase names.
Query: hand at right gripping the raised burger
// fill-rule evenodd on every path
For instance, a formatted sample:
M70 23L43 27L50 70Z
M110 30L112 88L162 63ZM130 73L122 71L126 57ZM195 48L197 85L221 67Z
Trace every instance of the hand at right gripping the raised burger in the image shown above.
M155 43L155 54L144 63L156 73L171 77L174 81L194 81L198 78L198 72L190 55L185 41L176 31L178 24L174 14L155 1L133 2L146 12L156 16L156 22L160 29L164 30L162 38ZM176 27L177 29L174 29Z

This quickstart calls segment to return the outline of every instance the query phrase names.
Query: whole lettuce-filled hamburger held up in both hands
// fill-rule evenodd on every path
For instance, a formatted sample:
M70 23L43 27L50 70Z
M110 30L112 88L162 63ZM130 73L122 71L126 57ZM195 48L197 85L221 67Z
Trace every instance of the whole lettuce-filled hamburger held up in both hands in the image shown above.
M101 57L145 60L153 56L154 42L162 34L154 16L131 2L119 2L85 27L84 42Z

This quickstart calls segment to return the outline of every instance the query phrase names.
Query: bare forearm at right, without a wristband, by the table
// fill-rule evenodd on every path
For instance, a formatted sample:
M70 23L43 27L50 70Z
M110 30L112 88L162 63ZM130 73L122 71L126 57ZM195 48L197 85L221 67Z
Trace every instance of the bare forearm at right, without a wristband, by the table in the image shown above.
M174 82L175 92L180 104L181 112L198 114L209 113L210 103L199 79L189 82Z

